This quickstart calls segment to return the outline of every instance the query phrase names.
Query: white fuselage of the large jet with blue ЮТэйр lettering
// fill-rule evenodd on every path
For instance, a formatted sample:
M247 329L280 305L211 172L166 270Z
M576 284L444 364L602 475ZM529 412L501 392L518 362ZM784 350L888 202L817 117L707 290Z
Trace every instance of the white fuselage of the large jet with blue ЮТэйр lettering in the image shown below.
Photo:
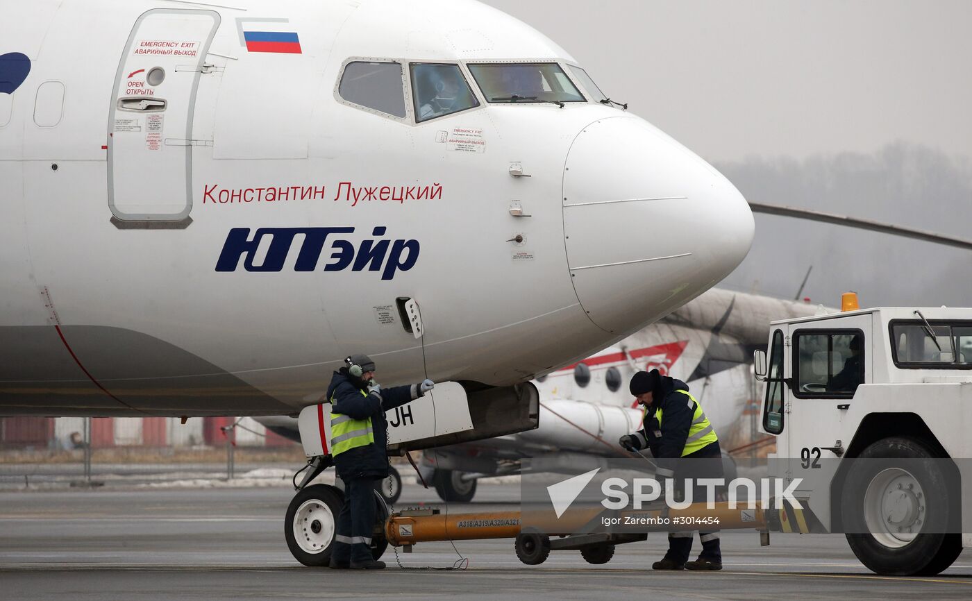
M469 63L576 65L511 17L232 4L0 5L0 55L31 67L0 93L0 414L294 413L352 352L382 383L525 382L749 248L732 184L583 83L564 108L490 103ZM254 26L300 51L251 51ZM366 60L402 66L405 117L341 96ZM458 65L478 106L417 122L418 62Z

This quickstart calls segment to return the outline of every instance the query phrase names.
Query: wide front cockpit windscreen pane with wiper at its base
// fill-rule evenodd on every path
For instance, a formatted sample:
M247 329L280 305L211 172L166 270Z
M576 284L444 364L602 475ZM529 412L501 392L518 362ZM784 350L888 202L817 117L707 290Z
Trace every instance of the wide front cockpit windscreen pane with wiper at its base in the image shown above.
M487 102L584 102L557 63L469 65Z

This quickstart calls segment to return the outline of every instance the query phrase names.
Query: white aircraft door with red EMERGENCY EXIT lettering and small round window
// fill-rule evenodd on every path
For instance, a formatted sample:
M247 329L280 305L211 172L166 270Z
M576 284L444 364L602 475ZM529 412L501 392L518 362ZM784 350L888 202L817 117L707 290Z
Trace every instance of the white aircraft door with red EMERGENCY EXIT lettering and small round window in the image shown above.
M192 114L220 24L212 11L155 9L121 54L108 120L108 206L125 221L181 221L192 208Z

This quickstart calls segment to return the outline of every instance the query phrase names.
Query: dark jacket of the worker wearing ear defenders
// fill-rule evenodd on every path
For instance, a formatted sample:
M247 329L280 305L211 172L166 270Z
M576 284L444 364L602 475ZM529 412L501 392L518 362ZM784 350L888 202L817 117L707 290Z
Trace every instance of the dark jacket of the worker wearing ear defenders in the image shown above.
M331 396L334 398L331 412L354 419L370 417L374 434L373 444L356 447L334 457L337 476L345 482L388 477L388 454L385 451L388 446L388 421L385 412L421 396L415 384L382 388L380 395L370 393L365 396L362 390L367 392L367 385L351 377L345 367L334 372L328 386L328 401Z

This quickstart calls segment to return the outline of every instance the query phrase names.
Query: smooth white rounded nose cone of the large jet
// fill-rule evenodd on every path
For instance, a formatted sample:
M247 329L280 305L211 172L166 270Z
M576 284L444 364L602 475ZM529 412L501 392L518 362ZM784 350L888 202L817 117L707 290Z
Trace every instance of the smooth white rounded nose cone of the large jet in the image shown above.
M610 117L574 139L564 230L577 299L623 334L716 284L746 257L746 199L706 161L638 117Z

